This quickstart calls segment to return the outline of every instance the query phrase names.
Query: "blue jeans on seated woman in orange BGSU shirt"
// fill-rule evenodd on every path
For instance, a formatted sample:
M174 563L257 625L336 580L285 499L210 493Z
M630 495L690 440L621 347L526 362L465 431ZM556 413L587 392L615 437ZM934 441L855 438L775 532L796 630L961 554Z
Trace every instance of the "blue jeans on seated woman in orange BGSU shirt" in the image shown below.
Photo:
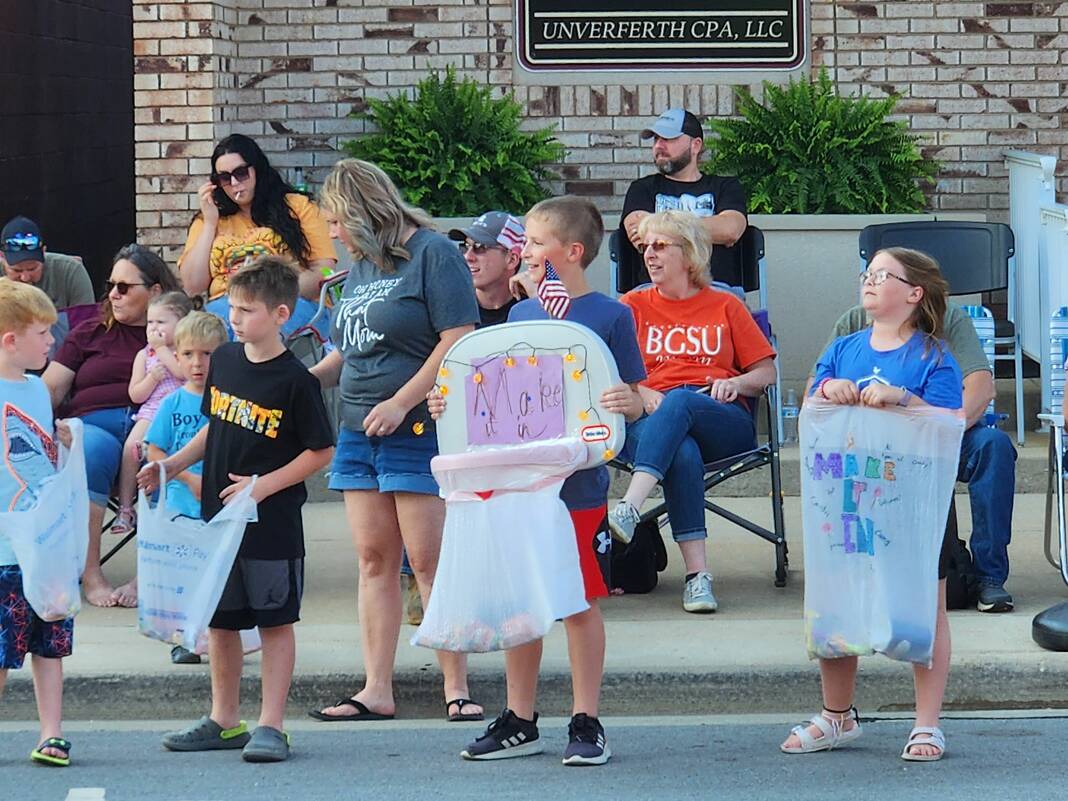
M661 483L676 543L704 539L706 462L756 446L753 415L693 387L664 395L660 407L627 426L623 457Z

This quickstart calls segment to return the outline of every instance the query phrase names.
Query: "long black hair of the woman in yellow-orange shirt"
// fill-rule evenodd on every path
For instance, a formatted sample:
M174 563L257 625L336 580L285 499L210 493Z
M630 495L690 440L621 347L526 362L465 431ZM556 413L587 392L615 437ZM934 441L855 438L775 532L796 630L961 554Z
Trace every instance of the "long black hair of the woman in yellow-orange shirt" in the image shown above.
M216 161L227 153L236 153L245 159L245 163L256 171L256 188L252 193L252 221L256 225L277 232L294 257L307 266L308 239L300 227L300 220L285 202L285 195L295 192L296 189L270 166L260 145L244 134L231 134L215 146L211 153L213 180L216 175ZM230 217L240 210L225 192L217 190L214 194L218 201L220 217Z

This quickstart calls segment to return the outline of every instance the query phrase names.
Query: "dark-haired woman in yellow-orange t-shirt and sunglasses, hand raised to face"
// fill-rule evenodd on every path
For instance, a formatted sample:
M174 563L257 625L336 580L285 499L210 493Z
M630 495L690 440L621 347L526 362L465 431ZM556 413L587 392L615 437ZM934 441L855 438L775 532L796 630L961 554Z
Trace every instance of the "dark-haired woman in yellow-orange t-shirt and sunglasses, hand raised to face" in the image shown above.
M182 283L190 295L206 293L209 301L226 294L230 276L248 260L288 255L300 268L305 302L294 310L295 326L315 311L319 280L337 257L318 206L298 193L270 166L249 137L233 134L211 154L211 177L198 190L200 211L189 226L178 258ZM226 319L222 307L207 311ZM309 308L310 307L310 308Z

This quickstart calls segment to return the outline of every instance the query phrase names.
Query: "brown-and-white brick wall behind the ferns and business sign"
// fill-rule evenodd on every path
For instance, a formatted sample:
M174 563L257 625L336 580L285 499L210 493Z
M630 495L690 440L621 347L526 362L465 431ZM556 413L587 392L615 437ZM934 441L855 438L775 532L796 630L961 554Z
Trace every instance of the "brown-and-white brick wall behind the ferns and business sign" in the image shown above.
M509 0L135 0L138 227L176 256L211 145L241 131L313 184L340 156L368 97L457 67L513 89ZM1068 162L1068 2L812 0L814 66L844 92L904 97L900 110L945 162L936 208L1003 215L1006 150ZM517 85L528 124L568 147L557 191L617 210L647 172L638 131L670 106L734 111L732 87L598 82ZM759 88L754 88L759 93ZM1068 189L1062 164L1061 188Z

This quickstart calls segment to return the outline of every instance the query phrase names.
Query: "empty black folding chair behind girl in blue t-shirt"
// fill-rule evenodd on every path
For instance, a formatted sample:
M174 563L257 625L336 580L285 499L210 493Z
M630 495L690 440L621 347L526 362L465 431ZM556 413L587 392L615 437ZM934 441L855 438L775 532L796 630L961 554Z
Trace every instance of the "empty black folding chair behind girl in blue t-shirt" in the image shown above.
M1016 390L1016 440L1023 444L1023 350L1012 323L1016 303L1016 240L1012 229L1001 222L930 220L888 222L861 231L861 269L882 248L912 248L933 257L949 282L951 295L1008 290L1009 317L994 320L994 362L1011 361ZM974 315L973 315L974 316ZM986 316L986 315L985 315Z

